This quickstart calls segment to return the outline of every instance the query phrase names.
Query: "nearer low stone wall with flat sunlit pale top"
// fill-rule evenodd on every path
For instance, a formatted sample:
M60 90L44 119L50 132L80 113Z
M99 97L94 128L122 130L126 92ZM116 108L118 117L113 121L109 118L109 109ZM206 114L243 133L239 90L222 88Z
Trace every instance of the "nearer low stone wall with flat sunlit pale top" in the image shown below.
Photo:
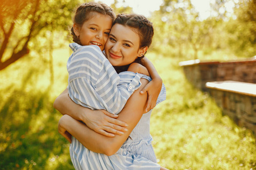
M205 86L223 114L256 134L256 84L222 81L207 82Z

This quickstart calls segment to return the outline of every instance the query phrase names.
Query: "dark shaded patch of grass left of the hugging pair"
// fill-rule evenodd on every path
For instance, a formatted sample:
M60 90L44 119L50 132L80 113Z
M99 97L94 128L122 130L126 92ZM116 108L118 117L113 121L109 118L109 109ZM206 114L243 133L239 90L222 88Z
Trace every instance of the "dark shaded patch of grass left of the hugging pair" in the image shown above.
M0 169L73 169L68 142L57 132L61 114L49 101L51 87L26 90L30 77L0 95Z

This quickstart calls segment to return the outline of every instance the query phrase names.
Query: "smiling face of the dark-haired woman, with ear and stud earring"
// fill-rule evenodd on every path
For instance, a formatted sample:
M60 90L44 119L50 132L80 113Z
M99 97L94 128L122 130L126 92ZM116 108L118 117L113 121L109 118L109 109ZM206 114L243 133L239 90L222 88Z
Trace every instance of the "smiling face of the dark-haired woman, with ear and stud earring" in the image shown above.
M142 56L147 48L139 48L139 35L134 29L114 24L106 42L105 53L113 66L125 66Z

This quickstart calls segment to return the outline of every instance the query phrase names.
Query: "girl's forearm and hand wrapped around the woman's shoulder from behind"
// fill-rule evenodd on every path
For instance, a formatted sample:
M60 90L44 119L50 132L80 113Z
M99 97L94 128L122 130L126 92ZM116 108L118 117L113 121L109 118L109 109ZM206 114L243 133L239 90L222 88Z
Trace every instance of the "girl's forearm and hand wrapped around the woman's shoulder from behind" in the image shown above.
M147 107L146 107L146 112L148 112L152 108L154 108L156 105L156 100L158 99L158 96L162 89L163 80L162 78L160 78L154 65L148 58L144 57L142 58L141 61L142 61L142 65L147 68L152 78L152 81L148 83L141 91L141 94L144 94L145 92L147 92L148 94Z

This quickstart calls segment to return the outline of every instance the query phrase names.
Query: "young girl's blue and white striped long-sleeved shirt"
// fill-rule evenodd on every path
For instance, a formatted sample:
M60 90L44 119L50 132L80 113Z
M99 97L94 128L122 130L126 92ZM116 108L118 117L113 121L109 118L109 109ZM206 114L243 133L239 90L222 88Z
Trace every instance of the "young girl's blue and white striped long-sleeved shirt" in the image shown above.
M126 101L141 86L141 75L130 71L117 74L97 45L69 44L73 54L68 59L68 94L90 109L121 112Z

